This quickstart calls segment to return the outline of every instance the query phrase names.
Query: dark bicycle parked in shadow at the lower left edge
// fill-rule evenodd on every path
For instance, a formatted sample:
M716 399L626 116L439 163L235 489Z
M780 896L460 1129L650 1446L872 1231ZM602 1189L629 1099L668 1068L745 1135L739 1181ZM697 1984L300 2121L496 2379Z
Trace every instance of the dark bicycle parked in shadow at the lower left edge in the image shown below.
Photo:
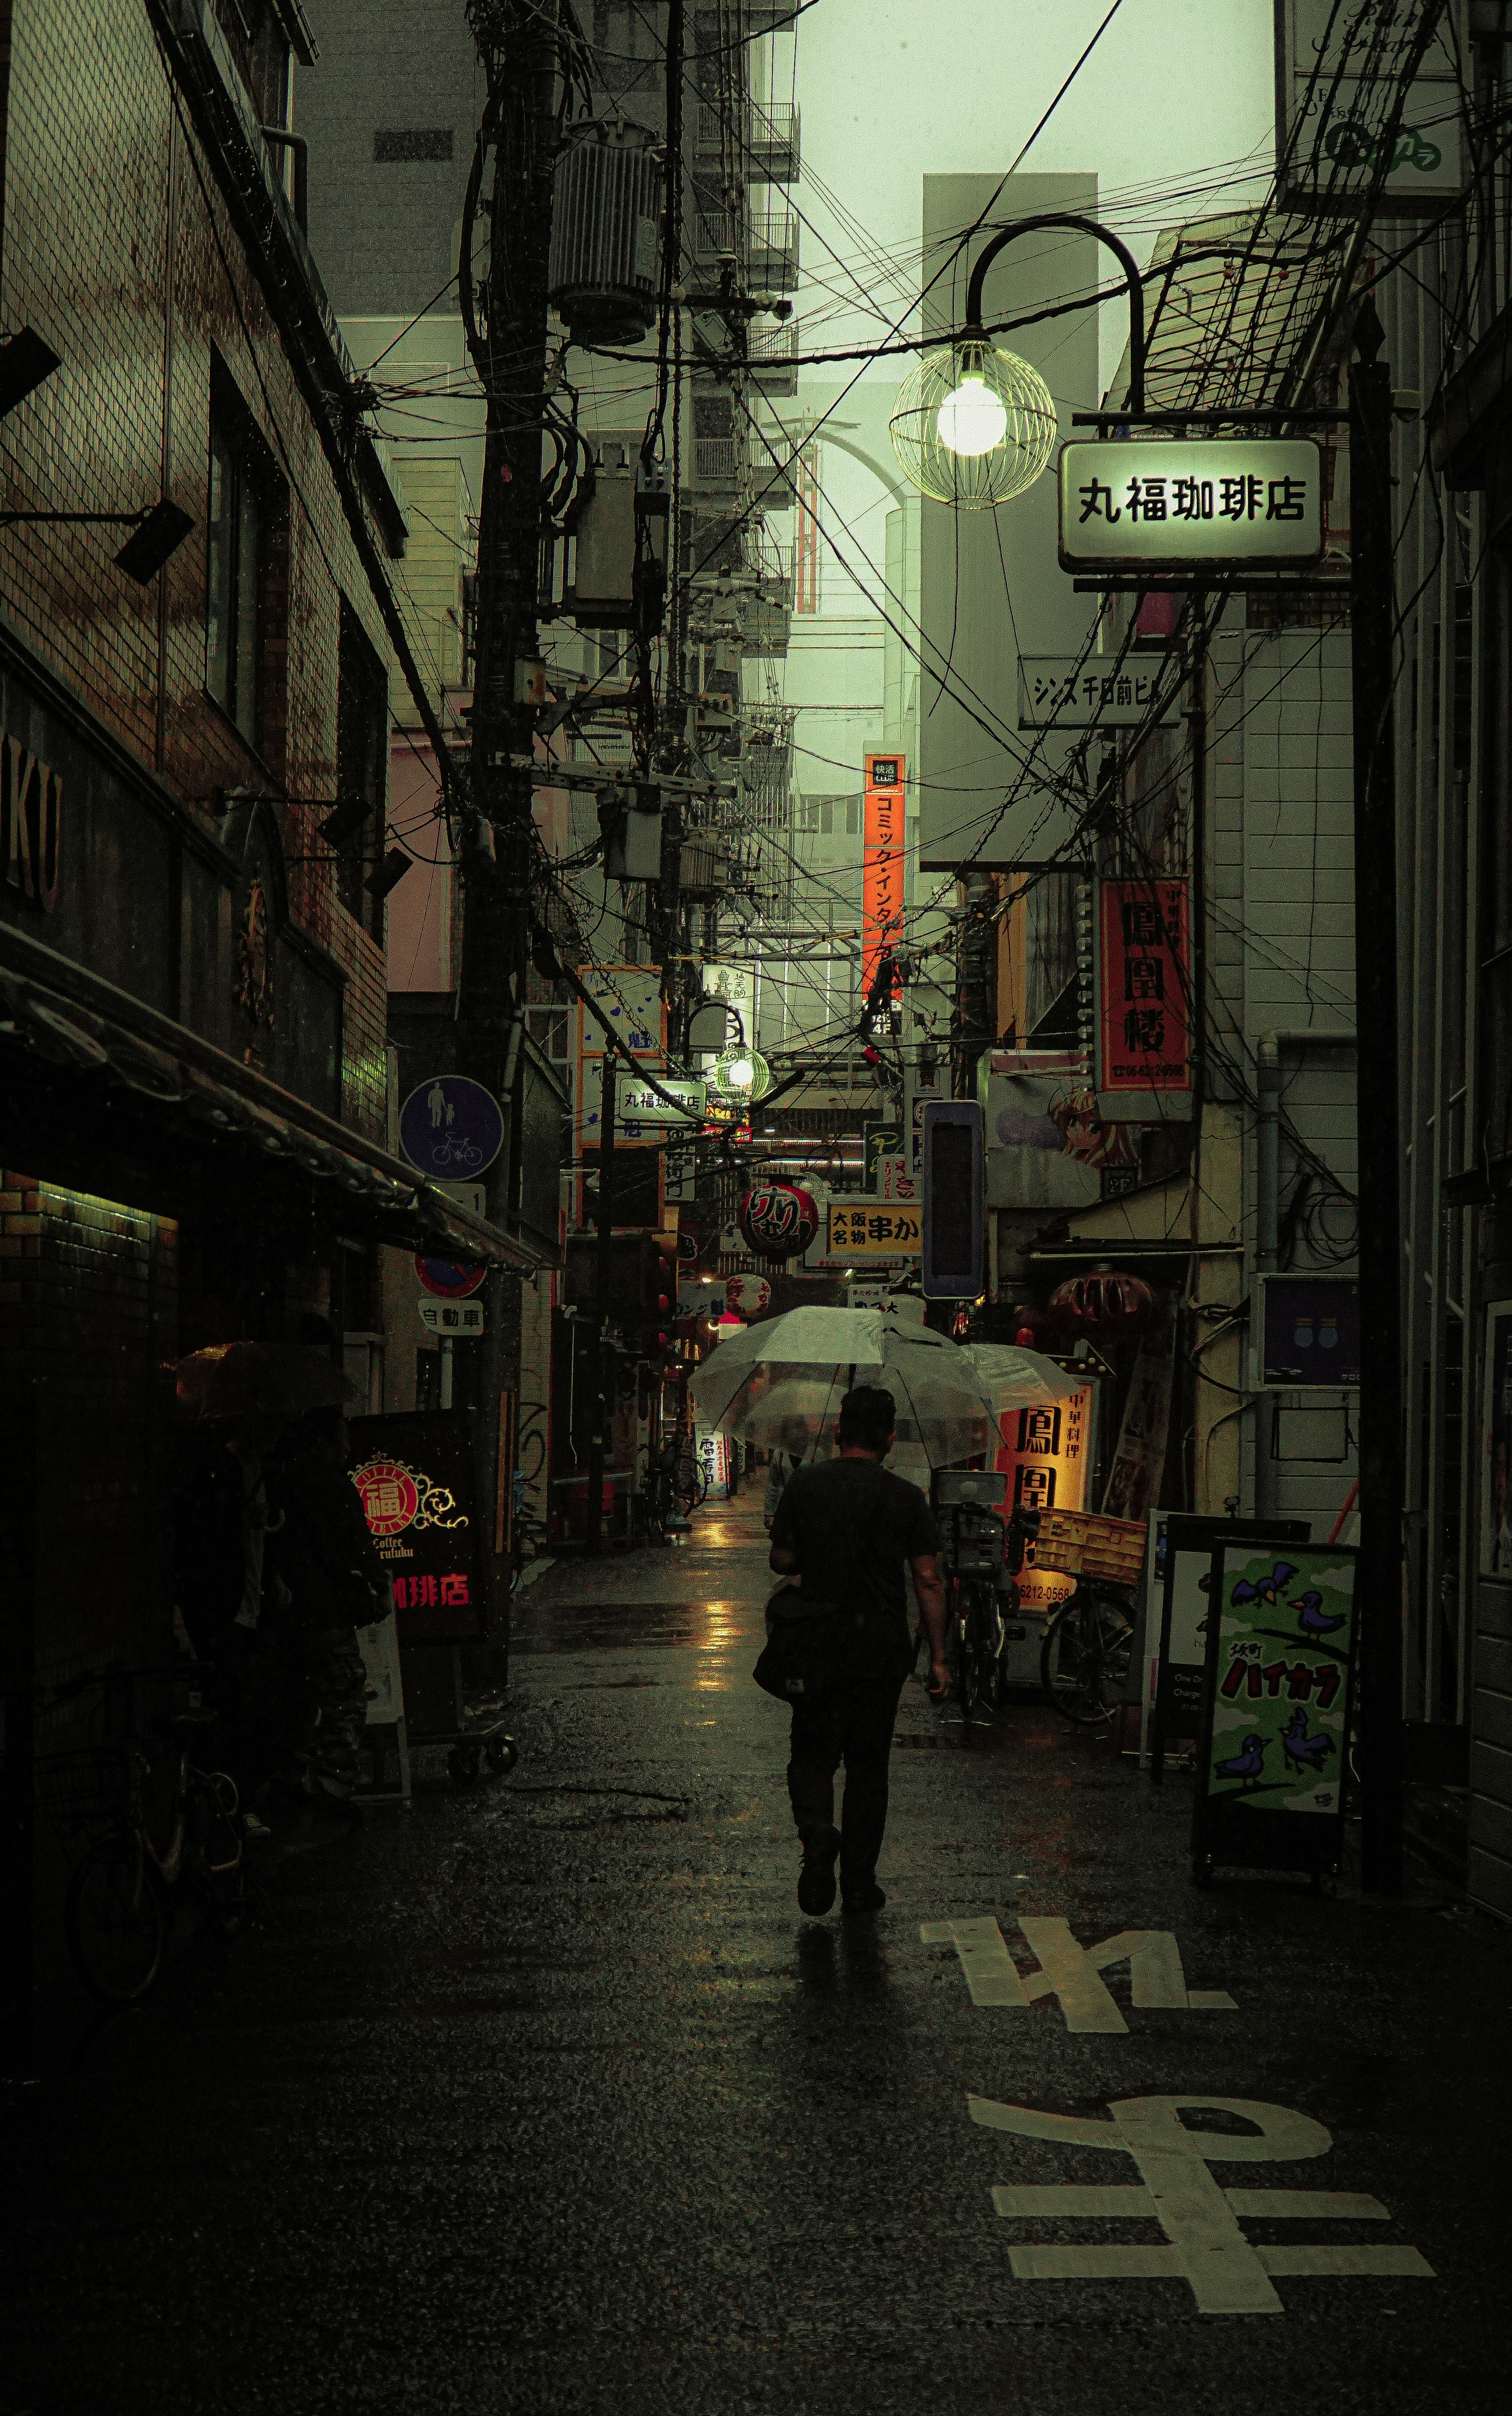
M184 1677L186 1672L133 1672ZM75 1679L53 1703L109 1677ZM130 1682L128 1682L130 1684ZM242 1887L237 1783L227 1771L200 1771L188 1759L193 1735L217 1713L191 1703L167 1720L176 1740L169 1836L162 1851L147 1826L145 1795L152 1764L130 1740L46 1754L36 1764L36 1798L63 1831L109 1824L75 1863L63 1897L63 1942L82 1986L101 2005L133 2005L162 1969L176 1913L176 1892L193 1899L205 1928L227 1935L229 1906Z

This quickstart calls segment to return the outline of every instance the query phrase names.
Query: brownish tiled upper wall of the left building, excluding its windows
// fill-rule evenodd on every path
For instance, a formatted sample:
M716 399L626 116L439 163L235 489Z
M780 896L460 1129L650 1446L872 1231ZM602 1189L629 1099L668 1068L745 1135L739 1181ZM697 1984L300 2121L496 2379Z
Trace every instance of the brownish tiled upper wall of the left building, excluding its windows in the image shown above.
M143 0L14 0L0 319L63 367L0 425L14 510L133 512L169 493L196 529L152 587L123 532L0 532L0 609L51 669L208 819L225 790L331 797L341 594L386 652L331 469ZM290 490L287 621L254 754L205 693L210 372L220 355ZM382 551L382 546L379 546ZM283 805L290 911L348 976L343 1116L382 1138L384 959L336 901L314 814Z

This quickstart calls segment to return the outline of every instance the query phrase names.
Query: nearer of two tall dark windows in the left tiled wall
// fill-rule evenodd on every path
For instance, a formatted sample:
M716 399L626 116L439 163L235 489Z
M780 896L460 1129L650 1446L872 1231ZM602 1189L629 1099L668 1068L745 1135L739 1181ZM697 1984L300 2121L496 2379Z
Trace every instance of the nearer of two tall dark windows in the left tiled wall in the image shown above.
M210 387L205 686L249 747L261 739L263 621L275 474L220 370Z

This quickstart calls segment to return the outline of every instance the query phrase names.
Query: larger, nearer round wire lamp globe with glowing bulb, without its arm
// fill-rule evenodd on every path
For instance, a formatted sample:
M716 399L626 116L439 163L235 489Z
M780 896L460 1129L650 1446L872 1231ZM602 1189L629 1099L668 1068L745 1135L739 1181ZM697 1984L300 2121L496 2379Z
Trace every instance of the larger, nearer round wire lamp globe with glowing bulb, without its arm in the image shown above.
M923 353L886 423L899 469L935 503L988 512L1034 486L1056 449L1056 396L985 338Z

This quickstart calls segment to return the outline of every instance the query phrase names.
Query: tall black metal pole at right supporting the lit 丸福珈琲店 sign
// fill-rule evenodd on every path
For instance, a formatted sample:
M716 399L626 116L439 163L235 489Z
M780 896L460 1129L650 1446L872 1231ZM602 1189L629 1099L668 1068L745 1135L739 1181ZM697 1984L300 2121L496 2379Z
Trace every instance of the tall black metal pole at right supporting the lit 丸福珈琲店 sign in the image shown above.
M1396 1036L1396 732L1391 652L1391 370L1374 300L1350 362L1350 640L1355 674L1355 1027L1360 1119L1360 1740L1365 1887L1401 1894L1401 1109Z

